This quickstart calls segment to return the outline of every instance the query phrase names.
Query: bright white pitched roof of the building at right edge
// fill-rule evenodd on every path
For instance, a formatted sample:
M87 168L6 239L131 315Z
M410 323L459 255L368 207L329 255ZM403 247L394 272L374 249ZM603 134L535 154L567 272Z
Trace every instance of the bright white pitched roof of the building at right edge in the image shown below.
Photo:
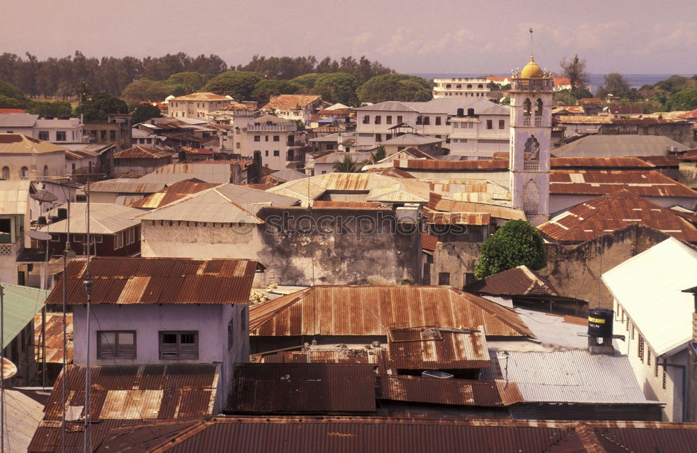
M602 280L622 305L656 356L687 346L692 339L697 251L675 238L604 272Z

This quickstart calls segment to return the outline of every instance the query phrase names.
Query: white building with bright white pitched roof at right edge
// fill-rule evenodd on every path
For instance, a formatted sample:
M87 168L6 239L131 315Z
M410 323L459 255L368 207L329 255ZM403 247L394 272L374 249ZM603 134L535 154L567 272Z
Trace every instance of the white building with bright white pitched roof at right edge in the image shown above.
M695 306L694 296L683 291L697 284L697 252L668 238L602 280L614 298L614 333L625 335L617 347L629 356L645 396L666 404L665 420L687 421L684 392L696 378L689 366Z

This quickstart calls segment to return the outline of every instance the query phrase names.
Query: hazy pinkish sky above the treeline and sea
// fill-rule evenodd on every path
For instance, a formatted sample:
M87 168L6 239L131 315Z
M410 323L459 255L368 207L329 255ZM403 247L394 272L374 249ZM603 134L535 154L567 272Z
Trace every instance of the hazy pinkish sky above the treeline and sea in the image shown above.
M2 0L0 52L365 55L399 72L697 72L697 0Z

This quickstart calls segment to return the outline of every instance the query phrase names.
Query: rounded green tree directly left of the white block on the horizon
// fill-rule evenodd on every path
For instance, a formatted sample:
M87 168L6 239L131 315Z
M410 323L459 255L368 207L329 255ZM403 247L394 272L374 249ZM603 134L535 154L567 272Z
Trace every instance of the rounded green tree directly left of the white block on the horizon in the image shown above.
M358 88L360 102L404 102L430 100L431 84L415 75L384 74L369 79Z

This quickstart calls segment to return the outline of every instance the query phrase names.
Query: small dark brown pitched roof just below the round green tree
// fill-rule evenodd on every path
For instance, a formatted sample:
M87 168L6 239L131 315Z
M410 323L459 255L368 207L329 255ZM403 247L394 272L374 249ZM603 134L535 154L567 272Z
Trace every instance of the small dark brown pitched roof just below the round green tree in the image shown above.
M518 266L484 277L467 286L467 291L495 295L559 295L550 282L535 274L527 266Z

